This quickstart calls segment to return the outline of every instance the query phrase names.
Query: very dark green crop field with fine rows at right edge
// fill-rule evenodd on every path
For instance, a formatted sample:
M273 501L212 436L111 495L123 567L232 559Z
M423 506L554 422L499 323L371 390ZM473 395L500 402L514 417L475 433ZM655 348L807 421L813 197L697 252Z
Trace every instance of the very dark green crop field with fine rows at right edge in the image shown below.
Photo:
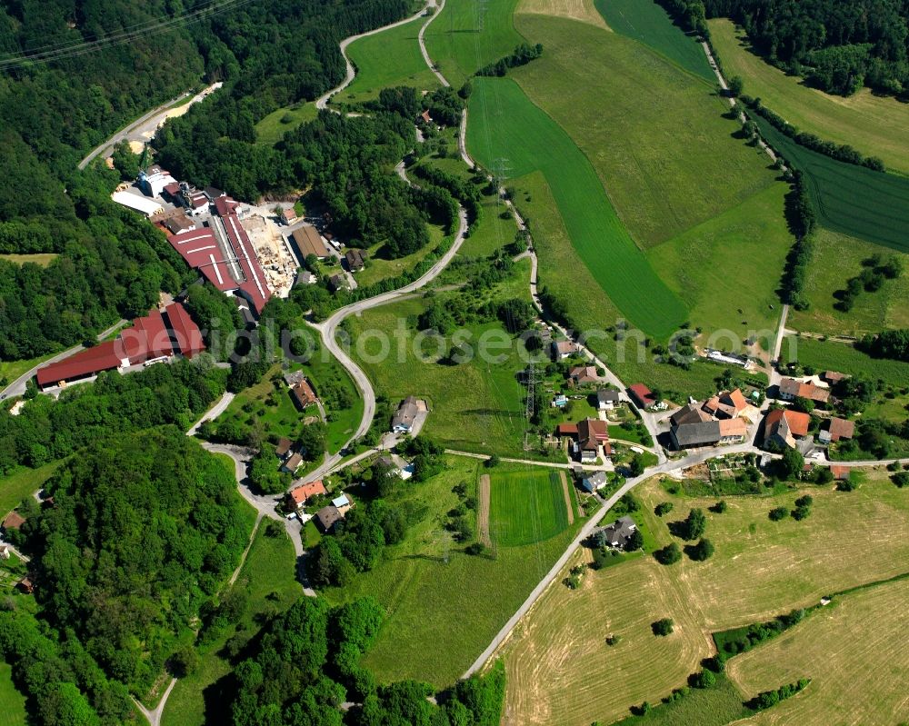
M817 154L781 134L755 114L767 143L804 173L824 227L874 244L909 252L909 178Z

